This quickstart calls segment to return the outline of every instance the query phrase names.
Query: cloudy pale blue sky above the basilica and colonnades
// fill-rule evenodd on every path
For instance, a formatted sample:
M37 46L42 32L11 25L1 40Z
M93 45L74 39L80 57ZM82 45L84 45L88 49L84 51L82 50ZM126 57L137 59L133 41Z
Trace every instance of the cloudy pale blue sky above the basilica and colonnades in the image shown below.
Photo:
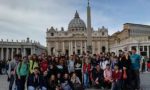
M46 28L67 30L77 10L86 22L87 0L0 0L0 38L30 37L46 46ZM92 27L105 26L109 34L124 23L150 25L150 0L91 0Z

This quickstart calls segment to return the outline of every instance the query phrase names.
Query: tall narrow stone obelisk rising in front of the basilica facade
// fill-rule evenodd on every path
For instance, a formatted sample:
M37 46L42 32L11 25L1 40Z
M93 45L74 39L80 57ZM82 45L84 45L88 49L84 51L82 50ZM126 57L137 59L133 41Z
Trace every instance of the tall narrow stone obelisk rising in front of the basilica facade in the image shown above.
M89 0L87 6L87 52L92 54L91 7Z

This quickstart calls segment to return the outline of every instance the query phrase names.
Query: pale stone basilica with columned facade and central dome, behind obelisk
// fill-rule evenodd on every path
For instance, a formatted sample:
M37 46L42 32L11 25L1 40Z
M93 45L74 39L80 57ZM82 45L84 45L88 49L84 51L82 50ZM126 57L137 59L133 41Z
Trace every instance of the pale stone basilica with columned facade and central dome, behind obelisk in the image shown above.
M74 18L68 24L68 30L47 29L48 54L83 54L87 52L87 28L85 22L76 11ZM108 29L104 26L98 30L92 29L92 53L108 52Z

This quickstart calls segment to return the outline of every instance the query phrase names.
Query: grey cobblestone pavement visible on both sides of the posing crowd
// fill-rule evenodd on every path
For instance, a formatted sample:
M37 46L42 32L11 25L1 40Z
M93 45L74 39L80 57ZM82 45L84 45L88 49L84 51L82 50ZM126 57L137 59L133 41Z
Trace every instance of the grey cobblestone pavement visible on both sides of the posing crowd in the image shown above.
M150 90L150 73L141 73L140 76L141 76L141 90ZM8 82L6 75L0 75L0 90L8 90ZM87 90L95 90L95 89L87 89Z

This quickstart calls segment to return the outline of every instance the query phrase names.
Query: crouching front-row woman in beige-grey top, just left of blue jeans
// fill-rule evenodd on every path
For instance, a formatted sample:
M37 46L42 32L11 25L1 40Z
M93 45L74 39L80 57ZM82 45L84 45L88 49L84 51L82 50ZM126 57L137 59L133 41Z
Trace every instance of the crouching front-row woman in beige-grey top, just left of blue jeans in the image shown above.
M72 74L72 77L71 77L71 82L73 84L73 88L74 90L81 90L81 81L79 79L79 77L76 75L76 73L73 73Z

